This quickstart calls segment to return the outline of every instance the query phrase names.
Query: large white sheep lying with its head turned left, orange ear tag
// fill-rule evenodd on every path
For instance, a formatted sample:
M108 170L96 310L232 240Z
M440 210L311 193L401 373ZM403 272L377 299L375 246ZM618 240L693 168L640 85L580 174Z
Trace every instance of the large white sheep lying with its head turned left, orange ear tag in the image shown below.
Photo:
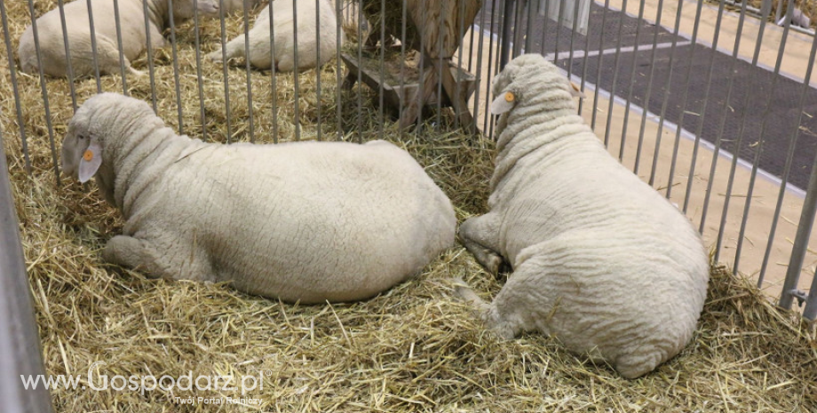
M152 276L232 282L321 303L369 298L454 243L446 195L385 141L219 145L177 136L138 99L88 99L64 173L122 211L102 258Z

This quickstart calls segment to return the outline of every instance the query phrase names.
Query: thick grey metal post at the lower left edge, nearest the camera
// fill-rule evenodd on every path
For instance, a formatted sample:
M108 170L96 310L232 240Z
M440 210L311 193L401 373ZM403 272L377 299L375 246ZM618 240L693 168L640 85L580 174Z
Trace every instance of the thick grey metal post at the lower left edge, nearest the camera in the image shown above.
M52 413L45 386L28 389L20 382L24 376L44 377L45 368L5 159L0 133L0 393L6 412Z

